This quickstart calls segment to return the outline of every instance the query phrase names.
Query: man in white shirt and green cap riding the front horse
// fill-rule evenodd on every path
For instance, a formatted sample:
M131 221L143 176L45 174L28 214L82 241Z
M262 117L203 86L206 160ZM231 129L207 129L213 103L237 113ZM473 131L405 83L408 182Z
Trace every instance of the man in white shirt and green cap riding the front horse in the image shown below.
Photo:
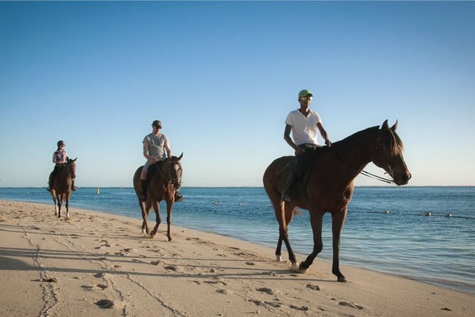
M303 171L308 168L312 153L317 147L320 147L317 141L317 128L325 140L327 146L331 146L327 131L325 131L320 115L310 109L313 94L310 90L301 90L298 93L299 109L291 111L285 119L284 139L295 150L295 160L290 166L287 181L285 181L282 200L290 203L292 197L290 189L293 186L295 178L301 176ZM290 138L292 131L292 138Z

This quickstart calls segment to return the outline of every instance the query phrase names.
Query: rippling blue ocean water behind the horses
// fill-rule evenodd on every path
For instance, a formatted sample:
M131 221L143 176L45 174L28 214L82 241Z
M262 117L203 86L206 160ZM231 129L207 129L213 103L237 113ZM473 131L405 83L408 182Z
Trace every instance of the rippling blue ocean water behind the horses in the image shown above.
M141 219L133 188L96 190L79 188L70 205ZM172 225L275 248L278 225L263 188L182 188L180 193L185 200L175 203ZM0 188L0 200L50 203L54 217L45 188ZM165 203L160 209L166 222ZM340 263L475 294L474 213L475 187L356 187L342 233ZM149 221L154 220L152 213ZM331 222L331 216L324 215L324 248L317 257L327 261L332 260ZM310 254L313 239L306 210L295 216L289 234L295 252ZM285 246L283 259L288 259Z

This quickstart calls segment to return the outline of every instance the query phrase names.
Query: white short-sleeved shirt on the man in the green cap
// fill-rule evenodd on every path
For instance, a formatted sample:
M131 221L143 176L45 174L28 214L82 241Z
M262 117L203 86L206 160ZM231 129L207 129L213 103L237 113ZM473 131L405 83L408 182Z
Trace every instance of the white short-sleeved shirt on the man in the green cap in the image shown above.
M292 138L297 146L301 144L318 144L317 123L322 122L320 115L310 109L305 117L298 109L289 112L285 124L292 126Z

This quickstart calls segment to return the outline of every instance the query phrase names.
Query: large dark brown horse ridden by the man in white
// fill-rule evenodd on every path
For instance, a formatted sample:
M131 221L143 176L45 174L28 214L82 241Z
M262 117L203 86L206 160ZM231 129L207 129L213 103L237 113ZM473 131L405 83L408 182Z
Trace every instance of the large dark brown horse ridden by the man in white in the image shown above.
M305 272L322 251L322 218L324 213L329 212L332 214L333 234L332 273L338 281L346 281L339 269L339 249L347 206L354 190L354 178L371 161L383 168L398 186L407 184L411 177L403 159L403 142L395 133L397 126L398 122L390 129L386 120L381 129L371 127L335 142L331 147L317 149L312 157L308 181L302 184L291 203L284 203L280 197L293 156L280 157L268 166L263 183L279 223L279 240L275 250L277 261L281 261L280 249L282 242L285 242L293 270ZM313 252L298 268L288 237L288 225L295 207L309 210L314 242Z

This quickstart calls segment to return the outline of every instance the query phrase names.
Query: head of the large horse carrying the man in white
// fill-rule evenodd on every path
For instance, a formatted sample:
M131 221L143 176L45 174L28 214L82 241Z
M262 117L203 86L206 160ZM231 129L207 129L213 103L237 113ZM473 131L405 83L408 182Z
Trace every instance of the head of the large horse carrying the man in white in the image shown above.
M391 128L388 126L388 120L383 122L381 129L378 130L378 141L373 163L383 168L393 178L394 183L401 186L408 183L411 175L403 158L403 141L395 132L397 127L397 120Z

